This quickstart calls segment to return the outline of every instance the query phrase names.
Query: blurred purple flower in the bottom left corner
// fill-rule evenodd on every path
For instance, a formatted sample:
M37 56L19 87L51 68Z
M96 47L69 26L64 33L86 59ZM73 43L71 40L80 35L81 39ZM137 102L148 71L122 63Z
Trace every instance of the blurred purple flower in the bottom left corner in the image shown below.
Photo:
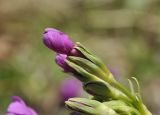
M28 107L25 102L18 96L12 97L6 115L38 115L32 108Z

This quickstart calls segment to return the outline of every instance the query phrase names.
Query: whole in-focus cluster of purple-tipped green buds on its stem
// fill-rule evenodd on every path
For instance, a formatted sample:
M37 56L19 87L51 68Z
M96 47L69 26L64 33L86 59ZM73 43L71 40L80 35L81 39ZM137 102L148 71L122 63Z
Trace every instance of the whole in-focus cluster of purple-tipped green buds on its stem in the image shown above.
M80 43L57 29L47 28L44 44L56 52L55 61L65 72L72 73L83 83L92 98L71 98L66 106L87 115L152 115L143 104L139 90L131 91L116 81L106 65ZM137 82L135 78L132 78Z

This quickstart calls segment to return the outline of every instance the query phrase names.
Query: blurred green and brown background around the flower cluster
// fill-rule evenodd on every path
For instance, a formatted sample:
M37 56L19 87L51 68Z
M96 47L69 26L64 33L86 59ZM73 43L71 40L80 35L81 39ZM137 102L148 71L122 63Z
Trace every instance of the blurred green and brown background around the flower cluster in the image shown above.
M40 115L67 115L58 86L67 77L42 43L46 27L79 41L117 78L140 81L144 103L160 110L159 0L0 0L0 114L12 95Z

